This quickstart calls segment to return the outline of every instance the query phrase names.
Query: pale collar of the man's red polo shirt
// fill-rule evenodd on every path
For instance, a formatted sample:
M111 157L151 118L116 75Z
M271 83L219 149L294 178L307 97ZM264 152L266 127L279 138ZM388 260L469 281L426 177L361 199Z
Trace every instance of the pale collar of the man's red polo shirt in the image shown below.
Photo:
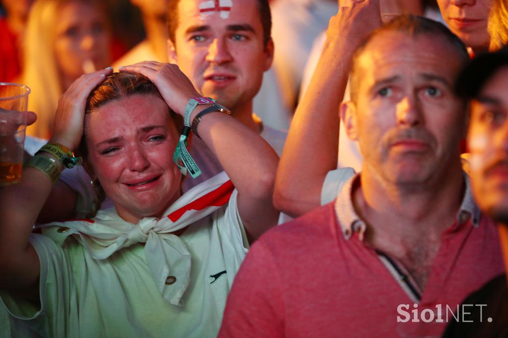
M465 173L463 173L463 176L466 190L453 227L460 226L469 220L472 221L474 227L478 227L481 212L474 202L469 177ZM367 224L357 215L353 207L353 186L359 179L360 173L350 178L344 184L334 202L335 214L346 240L350 239L353 233L358 232L360 241L363 241L367 229Z

